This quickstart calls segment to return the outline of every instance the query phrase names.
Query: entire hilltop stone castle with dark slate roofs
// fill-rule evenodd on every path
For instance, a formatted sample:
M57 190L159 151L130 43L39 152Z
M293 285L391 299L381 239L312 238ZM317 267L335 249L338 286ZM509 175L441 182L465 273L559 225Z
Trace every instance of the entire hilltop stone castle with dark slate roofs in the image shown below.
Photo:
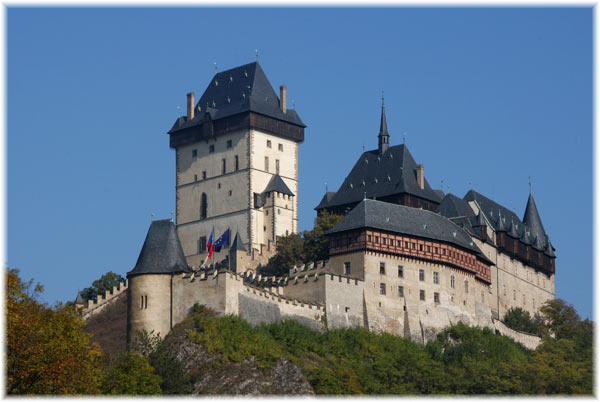
M499 321L554 298L555 254L532 194L523 219L471 190L432 189L405 144L390 146L382 103L378 148L364 152L317 213L344 215L329 259L264 277L256 267L298 231L298 144L305 125L258 62L217 73L171 130L176 224L153 221L127 273L127 337L165 335L194 304L252 324L294 319L315 329L364 327L426 342L458 321ZM211 233L235 233L206 265ZM215 240L213 238L213 242Z

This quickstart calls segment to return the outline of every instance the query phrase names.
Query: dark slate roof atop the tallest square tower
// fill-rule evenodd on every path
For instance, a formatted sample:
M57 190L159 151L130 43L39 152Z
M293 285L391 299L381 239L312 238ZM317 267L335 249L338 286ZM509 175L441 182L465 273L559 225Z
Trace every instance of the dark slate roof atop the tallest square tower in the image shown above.
M255 112L306 127L295 110L287 108L283 113L280 109L279 98L258 62L215 74L195 107L194 119L178 118L169 133L200 124L207 112L212 120Z

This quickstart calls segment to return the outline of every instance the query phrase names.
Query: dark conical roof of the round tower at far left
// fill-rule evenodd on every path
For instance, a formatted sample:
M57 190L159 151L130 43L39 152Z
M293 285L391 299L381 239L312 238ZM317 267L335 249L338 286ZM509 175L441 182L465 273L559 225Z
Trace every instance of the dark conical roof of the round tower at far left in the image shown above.
M153 221L135 267L127 276L192 272L170 219Z

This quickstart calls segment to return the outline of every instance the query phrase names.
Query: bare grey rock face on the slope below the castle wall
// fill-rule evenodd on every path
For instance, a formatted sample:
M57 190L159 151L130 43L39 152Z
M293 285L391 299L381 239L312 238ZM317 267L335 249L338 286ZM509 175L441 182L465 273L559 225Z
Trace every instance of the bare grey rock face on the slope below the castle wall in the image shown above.
M188 340L191 328L193 320L187 319L173 328L165 342L192 377L195 395L315 394L304 374L290 361L280 358L267 369L258 367L254 358L222 363L220 356Z

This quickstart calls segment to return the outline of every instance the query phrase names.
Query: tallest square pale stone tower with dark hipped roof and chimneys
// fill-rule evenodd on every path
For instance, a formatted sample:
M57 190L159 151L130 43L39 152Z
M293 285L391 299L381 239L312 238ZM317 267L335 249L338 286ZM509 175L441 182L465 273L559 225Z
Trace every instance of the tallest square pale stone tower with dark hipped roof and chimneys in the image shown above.
M227 229L265 256L298 231L298 144L305 125L273 90L258 62L217 73L169 131L176 152L176 222L187 262ZM226 257L226 249L215 258Z

